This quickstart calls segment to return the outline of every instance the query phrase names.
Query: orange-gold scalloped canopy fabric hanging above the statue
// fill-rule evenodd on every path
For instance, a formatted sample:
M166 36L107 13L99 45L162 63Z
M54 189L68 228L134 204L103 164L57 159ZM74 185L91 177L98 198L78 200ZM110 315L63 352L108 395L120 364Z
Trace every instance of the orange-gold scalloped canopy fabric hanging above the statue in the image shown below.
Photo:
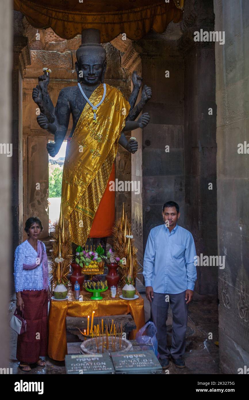
M38 29L52 28L64 39L96 28L101 42L110 42L120 33L131 40L141 39L153 29L163 33L169 22L182 19L184 0L14 0L14 9L22 12Z

